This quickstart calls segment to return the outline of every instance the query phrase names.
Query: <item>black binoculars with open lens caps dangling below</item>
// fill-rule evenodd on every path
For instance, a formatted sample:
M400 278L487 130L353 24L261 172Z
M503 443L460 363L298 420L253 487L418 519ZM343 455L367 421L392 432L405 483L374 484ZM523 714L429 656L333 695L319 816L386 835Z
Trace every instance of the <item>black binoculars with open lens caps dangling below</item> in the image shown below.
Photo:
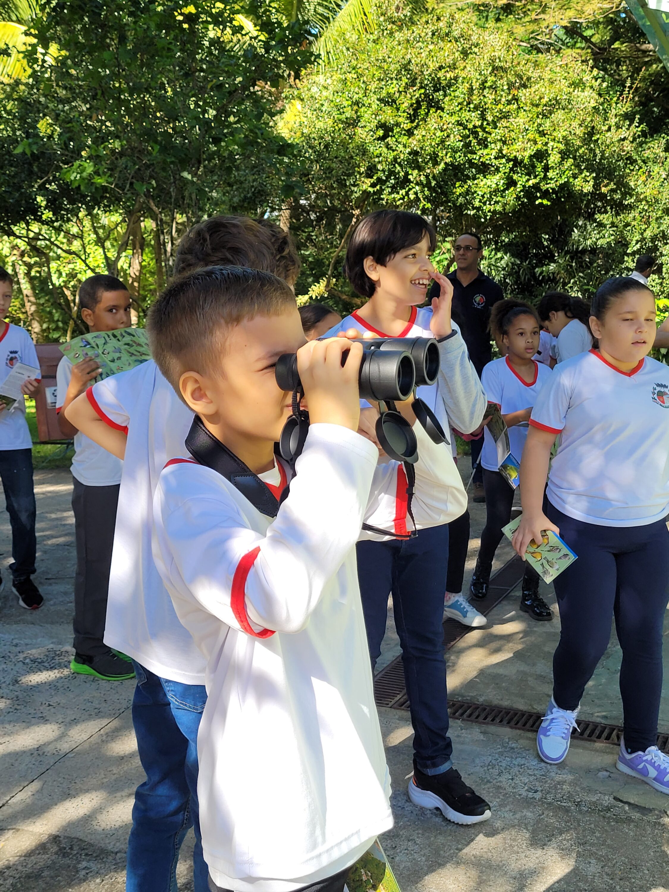
M436 382L440 367L437 342L429 337L359 340L363 347L359 371L360 399L380 403L376 437L390 458L414 464L418 459L416 434L394 404L409 400L415 387ZM347 356L348 351L343 354L342 364ZM295 353L279 356L275 376L282 390L292 391L293 394L301 392ZM294 415L286 422L279 444L286 460L300 454L309 423L296 401L294 407ZM433 442L446 442L442 425L424 401L414 400L411 409Z

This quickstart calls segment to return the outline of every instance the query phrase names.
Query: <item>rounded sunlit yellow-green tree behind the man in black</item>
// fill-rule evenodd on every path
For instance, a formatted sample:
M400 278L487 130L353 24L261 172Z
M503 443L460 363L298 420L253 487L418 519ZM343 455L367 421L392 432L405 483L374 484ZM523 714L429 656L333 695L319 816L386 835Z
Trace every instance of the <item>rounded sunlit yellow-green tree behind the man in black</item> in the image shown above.
M354 215L381 206L425 213L444 239L474 228L511 293L587 293L624 260L617 233L600 244L600 229L634 201L638 133L576 60L523 54L467 12L414 25L389 14L345 63L304 78L293 103L305 285L326 277L325 245L331 257Z

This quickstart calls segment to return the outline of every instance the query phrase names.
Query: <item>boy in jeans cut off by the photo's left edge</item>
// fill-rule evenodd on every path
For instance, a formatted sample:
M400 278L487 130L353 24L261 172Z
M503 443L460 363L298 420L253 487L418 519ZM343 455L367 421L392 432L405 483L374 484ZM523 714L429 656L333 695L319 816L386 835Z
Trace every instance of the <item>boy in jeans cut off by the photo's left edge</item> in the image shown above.
M9 312L12 302L13 280L6 269L0 267L0 319ZM9 375L17 363L39 368L35 344L27 331L9 322L0 323L0 381ZM21 390L26 396L34 396L39 378L26 381ZM21 607L37 610L44 598L30 576L35 573L37 538L35 536L35 491L32 482L32 440L26 407L22 400L12 409L0 403L0 479L3 482L4 499L12 524L12 589ZM0 582L2 588L2 582Z

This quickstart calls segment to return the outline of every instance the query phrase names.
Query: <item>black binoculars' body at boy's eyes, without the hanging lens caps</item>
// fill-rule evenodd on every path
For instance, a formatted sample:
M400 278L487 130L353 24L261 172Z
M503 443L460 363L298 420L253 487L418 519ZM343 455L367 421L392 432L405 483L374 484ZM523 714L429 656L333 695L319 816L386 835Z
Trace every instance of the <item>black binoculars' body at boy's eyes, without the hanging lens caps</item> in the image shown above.
M439 348L434 338L360 339L363 347L359 372L361 400L403 402L414 387L434 384L439 375ZM344 353L343 362L348 353ZM301 389L295 353L277 359L277 384L282 390Z

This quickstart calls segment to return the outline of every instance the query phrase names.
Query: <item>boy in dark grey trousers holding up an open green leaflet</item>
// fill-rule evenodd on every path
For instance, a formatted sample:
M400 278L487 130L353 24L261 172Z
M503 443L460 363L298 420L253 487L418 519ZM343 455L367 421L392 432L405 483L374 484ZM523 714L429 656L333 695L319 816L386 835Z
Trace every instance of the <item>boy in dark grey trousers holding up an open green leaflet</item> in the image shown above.
M130 295L114 276L91 276L79 287L81 318L91 332L117 331L130 325ZM81 434L63 414L70 402L86 392L100 373L95 359L72 366L63 356L56 371L56 411L63 436L74 437L72 510L77 541L74 581L74 650L70 669L104 681L133 678L128 660L103 642L104 619L119 501L121 462Z

